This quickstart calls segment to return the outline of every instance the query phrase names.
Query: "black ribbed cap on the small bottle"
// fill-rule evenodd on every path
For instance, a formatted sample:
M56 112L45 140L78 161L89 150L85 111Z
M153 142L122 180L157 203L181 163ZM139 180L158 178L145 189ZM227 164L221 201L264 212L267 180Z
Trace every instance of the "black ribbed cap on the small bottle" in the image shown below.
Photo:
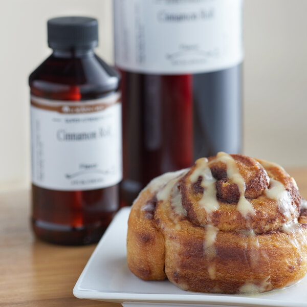
M48 20L48 45L51 48L94 48L98 45L98 21L71 16Z

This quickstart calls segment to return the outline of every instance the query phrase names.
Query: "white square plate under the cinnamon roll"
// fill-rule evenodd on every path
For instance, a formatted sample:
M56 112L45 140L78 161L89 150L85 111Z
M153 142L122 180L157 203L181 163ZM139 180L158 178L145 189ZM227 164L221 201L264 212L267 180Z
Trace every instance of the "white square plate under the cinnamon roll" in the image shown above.
M278 306L307 307L307 276L292 287L258 295L204 294L180 290L168 280L143 281L126 262L127 220L121 209L80 275L73 293L78 298L122 303L124 306Z

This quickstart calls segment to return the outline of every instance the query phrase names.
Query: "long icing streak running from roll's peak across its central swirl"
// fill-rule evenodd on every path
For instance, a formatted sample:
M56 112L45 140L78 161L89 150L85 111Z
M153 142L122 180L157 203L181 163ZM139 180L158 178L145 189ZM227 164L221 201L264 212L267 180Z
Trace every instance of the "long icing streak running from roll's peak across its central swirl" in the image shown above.
M255 214L252 204L245 198L245 181L239 173L235 160L225 152L218 152L216 158L226 164L227 177L238 186L240 198L236 209L244 217L247 217L248 214Z

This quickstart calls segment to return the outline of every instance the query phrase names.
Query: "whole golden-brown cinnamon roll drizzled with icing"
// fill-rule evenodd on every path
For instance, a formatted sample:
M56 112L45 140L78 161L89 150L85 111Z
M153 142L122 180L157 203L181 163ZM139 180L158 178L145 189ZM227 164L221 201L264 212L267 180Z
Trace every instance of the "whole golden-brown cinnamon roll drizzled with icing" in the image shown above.
M166 173L136 199L127 262L183 290L260 293L307 272L307 204L279 165L219 152Z

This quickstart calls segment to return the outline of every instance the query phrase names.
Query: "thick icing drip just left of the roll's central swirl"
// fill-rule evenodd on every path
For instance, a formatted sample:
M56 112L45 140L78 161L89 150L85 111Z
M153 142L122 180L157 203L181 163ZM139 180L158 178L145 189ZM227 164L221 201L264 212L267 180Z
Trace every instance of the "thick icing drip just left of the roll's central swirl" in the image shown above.
M196 182L202 176L203 180L201 186L204 188L202 198L199 201L200 206L205 208L208 214L211 214L218 208L220 204L216 200L216 179L212 176L211 170L208 166L208 159L203 158L196 161L196 169L190 176L191 182Z

